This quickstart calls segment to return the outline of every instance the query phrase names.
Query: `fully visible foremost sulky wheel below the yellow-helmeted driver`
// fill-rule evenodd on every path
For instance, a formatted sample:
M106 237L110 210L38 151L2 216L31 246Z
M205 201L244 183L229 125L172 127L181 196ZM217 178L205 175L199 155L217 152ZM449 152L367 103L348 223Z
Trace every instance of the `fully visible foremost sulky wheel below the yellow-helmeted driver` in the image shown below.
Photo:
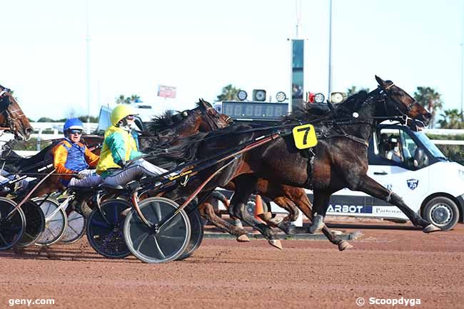
M133 255L146 263L176 260L190 240L191 227L186 212L179 212L158 229L159 224L178 209L178 204L168 198L147 198L139 206L150 226L141 221L136 211L131 211L124 223L124 237L128 248Z

